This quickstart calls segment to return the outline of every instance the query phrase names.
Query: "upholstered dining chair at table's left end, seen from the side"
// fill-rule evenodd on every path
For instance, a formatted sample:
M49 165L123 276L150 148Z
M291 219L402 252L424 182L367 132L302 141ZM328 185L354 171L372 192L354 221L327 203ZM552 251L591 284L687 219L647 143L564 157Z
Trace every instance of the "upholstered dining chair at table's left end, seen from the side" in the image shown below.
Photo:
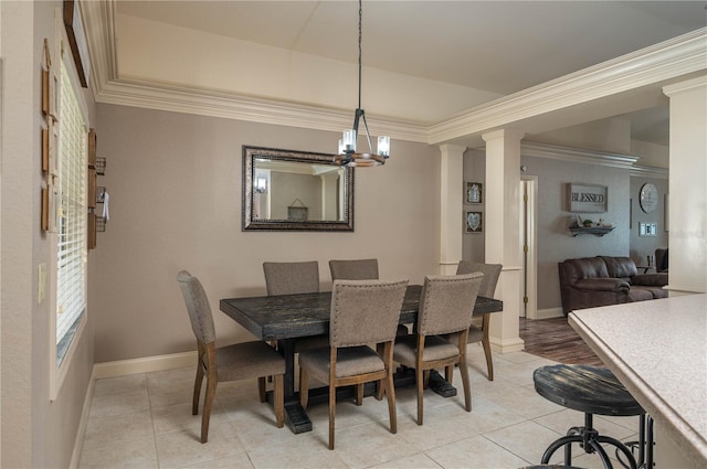
M209 439L209 419L217 385L223 381L257 379L261 402L265 402L265 376L274 376L274 406L277 427L285 423L284 374L285 359L275 349L262 341L242 342L215 347L215 328L211 307L203 287L197 277L187 270L177 274L177 281L187 303L191 329L197 338L197 379L192 399L192 415L199 414L201 384L207 377L207 393L201 416L201 443Z

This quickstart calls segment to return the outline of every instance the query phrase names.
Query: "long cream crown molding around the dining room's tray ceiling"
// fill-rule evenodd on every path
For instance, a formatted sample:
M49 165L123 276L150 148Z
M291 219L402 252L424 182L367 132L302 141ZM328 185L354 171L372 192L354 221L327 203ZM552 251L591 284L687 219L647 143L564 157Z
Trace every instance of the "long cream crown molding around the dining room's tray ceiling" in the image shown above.
M115 46L115 0L82 1L81 7L89 43L92 89L96 103L336 132L350 127L352 116L339 109L120 78ZM704 71L706 40L707 28L703 28L476 106L432 126L369 116L371 134L440 145L487 132L568 106Z

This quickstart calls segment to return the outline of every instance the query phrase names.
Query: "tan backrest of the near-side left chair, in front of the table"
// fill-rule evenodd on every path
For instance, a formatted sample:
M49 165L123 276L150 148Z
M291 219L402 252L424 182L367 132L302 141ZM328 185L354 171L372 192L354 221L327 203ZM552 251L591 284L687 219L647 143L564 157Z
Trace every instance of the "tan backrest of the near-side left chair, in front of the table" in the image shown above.
M329 343L334 348L392 341L408 280L335 280Z

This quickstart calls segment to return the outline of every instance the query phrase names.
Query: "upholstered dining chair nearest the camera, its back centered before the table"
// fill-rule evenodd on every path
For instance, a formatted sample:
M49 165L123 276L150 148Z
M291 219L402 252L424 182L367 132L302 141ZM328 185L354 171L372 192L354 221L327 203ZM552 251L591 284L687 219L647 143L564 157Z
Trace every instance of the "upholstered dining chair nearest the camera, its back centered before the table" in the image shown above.
M407 287L408 280L335 280L330 347L299 353L302 406L307 408L309 376L329 385L329 449L334 449L339 386L355 385L356 404L361 405L363 383L378 382L378 397L382 398L382 394L388 397L390 433L398 431L392 350Z

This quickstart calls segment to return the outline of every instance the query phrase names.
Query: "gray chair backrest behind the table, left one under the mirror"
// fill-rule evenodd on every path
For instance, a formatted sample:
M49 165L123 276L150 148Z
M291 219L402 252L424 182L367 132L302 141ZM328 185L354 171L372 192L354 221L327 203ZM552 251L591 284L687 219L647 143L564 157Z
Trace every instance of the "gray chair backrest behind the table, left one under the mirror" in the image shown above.
M319 291L319 263L263 263L267 295L315 294Z

